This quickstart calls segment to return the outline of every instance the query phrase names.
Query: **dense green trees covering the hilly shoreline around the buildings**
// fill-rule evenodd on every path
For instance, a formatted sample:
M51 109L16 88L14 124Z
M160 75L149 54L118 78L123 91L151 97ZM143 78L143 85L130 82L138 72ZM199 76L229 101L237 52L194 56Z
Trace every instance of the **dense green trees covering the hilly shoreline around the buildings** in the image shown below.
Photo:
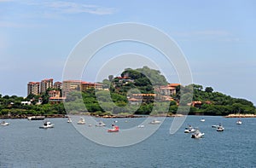
M68 113L91 113L95 115L106 114L160 114L177 113L177 104L188 106L192 101L189 114L205 115L227 115L230 113L256 113L253 103L245 99L233 98L219 92L214 92L212 87L198 84L188 86L177 86L176 94L172 95L174 101L155 101L154 99L144 100L139 105L131 104L127 97L132 94L152 94L155 88L166 85L167 81L159 71L148 67L138 69L125 69L119 78L109 75L102 84L106 90L87 90L86 92L73 91L67 95L65 104L49 104L48 93L41 96L18 96L0 95L0 116L27 116L27 115L52 115ZM193 90L193 96L191 91ZM48 90L49 91L49 90ZM183 94L185 101L179 101ZM42 104L38 99L42 98ZM32 101L32 105L22 105L21 101ZM64 108L65 105L65 108Z

